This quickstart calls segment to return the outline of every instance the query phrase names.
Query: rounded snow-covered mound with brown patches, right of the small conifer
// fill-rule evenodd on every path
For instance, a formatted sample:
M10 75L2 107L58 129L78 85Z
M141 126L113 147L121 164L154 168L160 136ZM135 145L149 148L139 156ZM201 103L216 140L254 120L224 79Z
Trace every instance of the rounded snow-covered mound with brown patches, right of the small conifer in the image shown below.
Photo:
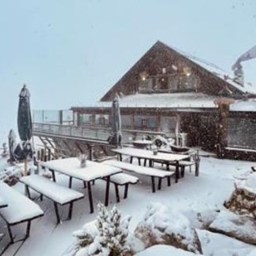
M152 203L142 222L135 230L135 236L146 247L156 244L175 246L194 253L201 253L201 246L189 218L162 203Z

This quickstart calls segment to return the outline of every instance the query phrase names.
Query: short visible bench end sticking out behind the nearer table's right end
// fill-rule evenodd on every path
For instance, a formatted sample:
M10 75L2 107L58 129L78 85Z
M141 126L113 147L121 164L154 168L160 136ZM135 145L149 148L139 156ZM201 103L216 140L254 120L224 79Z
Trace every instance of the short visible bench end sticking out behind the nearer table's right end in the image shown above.
M123 198L126 199L128 196L129 184L137 184L138 178L129 174L114 174L110 176L110 182L114 184L115 196L117 202L120 202L118 186L125 186Z

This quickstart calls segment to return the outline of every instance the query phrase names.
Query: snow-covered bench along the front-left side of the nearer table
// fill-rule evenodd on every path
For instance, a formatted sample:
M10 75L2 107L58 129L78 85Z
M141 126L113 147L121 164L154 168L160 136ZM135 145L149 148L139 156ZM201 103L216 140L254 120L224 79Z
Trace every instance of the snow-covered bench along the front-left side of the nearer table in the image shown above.
M60 186L57 183L52 182L49 178L42 177L38 174L22 177L20 182L25 184L26 193L29 198L31 198L29 189L31 188L41 194L41 200L42 197L45 196L54 202L57 224L60 222L58 204L61 206L70 204L68 219L71 219L74 201L84 198L84 194L76 190Z

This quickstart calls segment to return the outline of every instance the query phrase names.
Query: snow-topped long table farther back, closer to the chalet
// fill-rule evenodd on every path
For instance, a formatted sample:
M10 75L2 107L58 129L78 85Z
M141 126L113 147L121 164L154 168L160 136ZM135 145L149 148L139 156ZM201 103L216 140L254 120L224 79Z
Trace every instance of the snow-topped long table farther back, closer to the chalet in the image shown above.
M164 162L166 163L167 169L169 169L169 164L175 163L175 182L178 182L179 178L179 161L184 160L186 158L189 158L186 154L170 154L170 153L160 153L154 154L154 151L151 150L141 150L141 149L134 149L134 148L122 148L122 149L114 149L113 152L117 153L119 155L120 161L122 161L122 155L128 155L130 156L132 161L132 158L138 158L138 164L140 165L141 159L149 160L150 167L153 166L154 162ZM144 162L145 165L145 162Z

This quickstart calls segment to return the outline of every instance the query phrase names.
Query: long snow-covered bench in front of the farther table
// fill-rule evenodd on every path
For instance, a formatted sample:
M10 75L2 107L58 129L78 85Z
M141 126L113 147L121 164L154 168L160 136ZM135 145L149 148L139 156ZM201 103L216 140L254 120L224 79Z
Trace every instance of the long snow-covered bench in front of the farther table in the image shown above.
M109 160L109 161L105 161L103 163L106 165L109 165L109 166L119 167L122 170L132 171L136 174L150 176L153 193L155 192L154 178L158 178L158 190L161 190L162 178L167 178L167 185L170 186L170 177L175 174L174 171L158 170L158 169L154 169L151 167L145 167L145 166L135 166L128 162Z

